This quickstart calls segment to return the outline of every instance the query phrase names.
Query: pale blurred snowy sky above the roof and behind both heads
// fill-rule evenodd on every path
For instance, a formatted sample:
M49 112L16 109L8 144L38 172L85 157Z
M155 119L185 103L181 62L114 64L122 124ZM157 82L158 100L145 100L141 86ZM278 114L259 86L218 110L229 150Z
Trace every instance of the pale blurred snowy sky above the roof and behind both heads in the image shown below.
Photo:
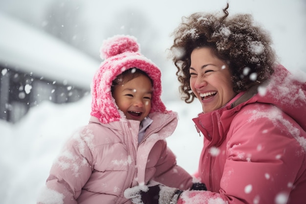
M175 68L166 59L165 53L172 43L170 34L182 16L201 11L221 12L226 2L0 0L0 12L63 40L99 62L99 49L103 40L115 34L134 35L141 45L142 53L164 72L164 99L174 100L177 99L177 95L174 95L177 86L173 84L176 83ZM273 46L286 68L306 69L306 0L229 0L229 3L230 14L253 14L255 21L271 33ZM0 37L10 38L1 34ZM30 46L27 49L33 52Z

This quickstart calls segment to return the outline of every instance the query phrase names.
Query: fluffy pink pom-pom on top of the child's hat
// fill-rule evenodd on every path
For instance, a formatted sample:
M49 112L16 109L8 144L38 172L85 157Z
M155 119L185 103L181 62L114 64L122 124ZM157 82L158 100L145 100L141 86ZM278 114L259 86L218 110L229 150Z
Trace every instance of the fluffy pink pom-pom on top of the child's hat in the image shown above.
M124 52L138 52L139 45L136 38L129 35L115 35L103 41L100 49L100 57L108 59L109 57L122 54Z

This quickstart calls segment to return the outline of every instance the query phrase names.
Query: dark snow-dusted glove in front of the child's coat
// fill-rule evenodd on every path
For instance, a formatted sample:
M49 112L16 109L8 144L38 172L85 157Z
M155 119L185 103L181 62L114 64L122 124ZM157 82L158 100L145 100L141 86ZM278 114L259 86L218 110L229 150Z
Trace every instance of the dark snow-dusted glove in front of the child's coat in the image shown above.
M124 196L134 204L176 204L182 191L158 182L128 188Z

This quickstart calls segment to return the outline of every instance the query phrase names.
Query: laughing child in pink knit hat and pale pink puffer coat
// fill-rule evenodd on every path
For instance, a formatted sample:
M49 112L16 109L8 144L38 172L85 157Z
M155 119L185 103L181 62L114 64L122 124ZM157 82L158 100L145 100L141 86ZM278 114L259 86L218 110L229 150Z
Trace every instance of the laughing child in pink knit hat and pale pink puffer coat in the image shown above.
M131 204L124 190L149 180L188 189L165 138L177 124L160 99L161 72L132 36L104 41L94 75L89 124L55 160L39 204Z

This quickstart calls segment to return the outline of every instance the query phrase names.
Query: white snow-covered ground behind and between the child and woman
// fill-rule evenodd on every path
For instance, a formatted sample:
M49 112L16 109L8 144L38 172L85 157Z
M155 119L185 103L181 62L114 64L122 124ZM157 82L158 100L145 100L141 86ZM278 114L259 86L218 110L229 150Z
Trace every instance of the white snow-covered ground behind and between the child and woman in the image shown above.
M90 113L91 97L79 102L58 105L43 102L30 109L17 124L0 120L0 203L34 204L44 186L52 161L66 138L74 130L86 125ZM179 125L168 138L178 164L194 173L201 150L203 136L199 137L191 120L200 112L200 106L172 102L168 109L178 111Z

